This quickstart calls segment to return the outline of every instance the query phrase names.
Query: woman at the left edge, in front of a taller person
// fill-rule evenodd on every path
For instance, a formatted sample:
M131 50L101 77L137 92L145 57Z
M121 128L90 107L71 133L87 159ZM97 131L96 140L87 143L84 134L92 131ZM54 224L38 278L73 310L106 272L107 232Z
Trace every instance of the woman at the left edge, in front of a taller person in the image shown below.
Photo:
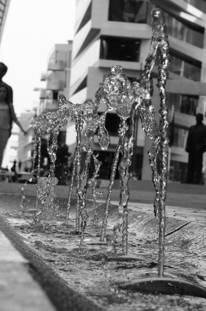
M14 107L9 100L9 91L6 83L0 83L0 168L2 166L3 152L12 133L12 122L15 122L24 134L25 130L16 118Z

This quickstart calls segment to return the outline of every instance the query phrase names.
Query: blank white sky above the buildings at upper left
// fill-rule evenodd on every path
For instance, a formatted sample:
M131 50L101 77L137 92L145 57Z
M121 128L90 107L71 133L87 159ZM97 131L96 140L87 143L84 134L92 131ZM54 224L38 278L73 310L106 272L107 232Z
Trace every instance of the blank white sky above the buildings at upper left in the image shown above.
M8 67L3 81L12 86L16 114L32 109L35 87L46 72L54 44L74 35L75 0L11 0L0 43L0 62Z

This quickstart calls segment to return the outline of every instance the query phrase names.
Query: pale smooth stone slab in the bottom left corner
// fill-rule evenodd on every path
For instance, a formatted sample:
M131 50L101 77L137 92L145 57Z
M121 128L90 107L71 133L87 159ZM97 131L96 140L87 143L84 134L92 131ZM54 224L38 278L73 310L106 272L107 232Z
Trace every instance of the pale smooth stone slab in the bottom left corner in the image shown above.
M55 311L29 273L29 262L0 231L0 310Z

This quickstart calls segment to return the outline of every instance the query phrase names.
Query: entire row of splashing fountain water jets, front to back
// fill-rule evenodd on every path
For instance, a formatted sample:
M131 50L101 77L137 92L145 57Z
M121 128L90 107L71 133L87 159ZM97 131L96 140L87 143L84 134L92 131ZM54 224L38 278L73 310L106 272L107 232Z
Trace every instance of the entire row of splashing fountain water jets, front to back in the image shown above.
M127 253L127 204L129 200L129 167L131 165L133 149L134 149L134 137L135 137L135 116L138 110L140 114L142 127L153 141L149 154L149 163L152 168L152 181L156 190L156 197L154 202L154 213L159 224L159 265L158 275L163 276L164 268L164 239L165 239L165 200L166 200L166 186L167 186L167 143L168 143L168 109L166 102L165 84L168 78L167 67L169 65L168 54L168 39L166 34L166 26L164 23L163 13L160 9L152 11L153 25L152 25L152 41L150 46L150 52L146 59L145 69L141 78L139 87L136 84L131 84L129 79L123 74L122 68L119 65L115 65L111 68L110 73L105 75L104 82L100 84L99 90L95 94L95 103L91 99L86 100L83 104L73 104L67 101L63 95L60 95L59 107L55 113L47 113L43 117L46 130L49 138L52 138L52 143L49 144L48 138L48 153L51 159L51 166L48 179L44 179L45 189L41 193L42 207L36 213L34 222L40 220L42 211L44 210L44 204L49 196L52 188L52 182L54 181L54 169L57 151L57 137L60 129L67 122L68 119L75 121L75 128L77 131L77 146L75 149L75 159L73 165L73 177L70 184L70 190L68 194L67 214L65 222L68 222L69 209L71 203L71 195L73 188L74 176L77 176L77 209L76 209L76 230L79 230L79 213L82 216L81 222L81 241L79 246L79 252L81 252L84 230L86 227L88 215L86 209L85 195L87 192L88 183L92 183L92 194L94 197L94 212L96 215L96 198L100 193L95 189L95 179L98 174L101 162L97 160L93 154L92 143L94 139L94 133L98 129L99 146L102 150L106 150L110 145L110 136L105 128L105 120L107 112L115 109L116 113L120 117L119 124L119 142L116 147L115 157L113 159L110 183L108 186L108 193L105 204L105 213L102 222L102 230L100 240L103 241L105 237L105 230L108 218L108 209L111 201L112 187L114 184L115 172L119 160L119 153L122 150L122 160L119 165L120 174L120 202L119 202L119 222L114 227L114 234L107 239L109 247L113 244L117 234L122 226L123 236L122 245L123 253ZM157 126L155 119L155 110L151 102L151 96L153 93L152 85L152 71L155 63L155 58L159 52L160 66L158 66L159 78L157 86L161 97L161 107L159 110L161 116L160 128ZM106 110L100 116L97 113L97 109L102 100L106 105ZM129 126L127 119L130 116ZM80 174L80 144L81 144L81 132L83 122L87 123L86 141L84 144L84 150L86 151L86 160L82 173ZM129 129L129 131L128 131ZM37 141L40 144L40 126L34 127L35 130L35 146ZM36 150L36 148L35 148ZM157 153L160 150L161 153L161 174L157 173ZM39 148L38 151L40 152ZM37 154L34 154L36 158ZM95 162L95 173L91 180L89 180L88 168L89 163L93 157ZM38 164L39 165L39 164ZM34 167L33 167L34 169ZM38 177L38 184L40 179ZM41 188L41 187L40 187ZM23 192L23 191L22 191ZM39 192L41 190L39 189ZM44 193L44 194L43 194ZM51 193L52 194L52 193ZM39 194L40 195L40 194ZM22 195L23 198L23 195ZM23 201L22 201L23 202ZM23 203L22 203L23 205ZM79 211L79 207L81 210Z

